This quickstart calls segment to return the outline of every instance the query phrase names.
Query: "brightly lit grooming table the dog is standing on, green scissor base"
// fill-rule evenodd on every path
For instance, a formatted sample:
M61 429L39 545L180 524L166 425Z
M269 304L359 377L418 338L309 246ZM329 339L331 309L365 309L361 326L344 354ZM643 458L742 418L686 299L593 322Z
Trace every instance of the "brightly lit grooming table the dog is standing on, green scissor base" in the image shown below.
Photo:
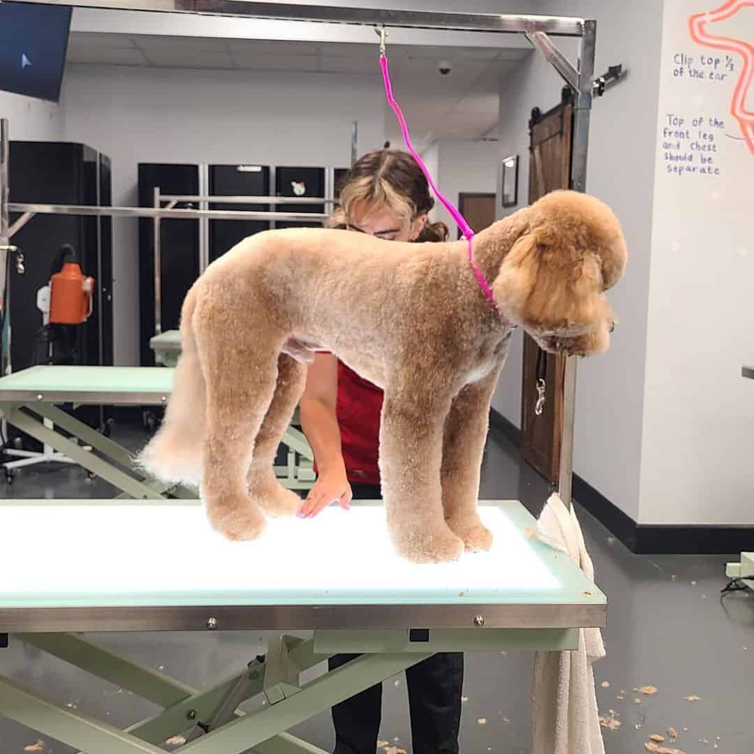
M259 540L231 544L198 501L0 501L0 633L164 708L121 731L0 671L0 715L91 754L158 754L176 734L192 754L323 754L285 731L437 651L573 649L579 627L605 625L605 596L564 553L526 538L535 521L519 502L481 513L491 552L415 566L394 555L374 502L273 520ZM279 636L203 691L65 633L262 629L313 636ZM364 654L299 678L343 651ZM265 706L238 711L259 694Z

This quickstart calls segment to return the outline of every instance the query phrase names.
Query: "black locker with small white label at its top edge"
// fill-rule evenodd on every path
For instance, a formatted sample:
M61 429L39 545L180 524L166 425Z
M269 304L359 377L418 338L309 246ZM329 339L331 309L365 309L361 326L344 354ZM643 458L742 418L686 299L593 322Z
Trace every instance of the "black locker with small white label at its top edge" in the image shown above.
M265 165L210 165L210 195L269 196L270 169ZM280 207L284 210L285 207ZM269 204L210 204L210 210L267 212ZM210 220L210 262L247 236L269 230L270 223L255 220Z

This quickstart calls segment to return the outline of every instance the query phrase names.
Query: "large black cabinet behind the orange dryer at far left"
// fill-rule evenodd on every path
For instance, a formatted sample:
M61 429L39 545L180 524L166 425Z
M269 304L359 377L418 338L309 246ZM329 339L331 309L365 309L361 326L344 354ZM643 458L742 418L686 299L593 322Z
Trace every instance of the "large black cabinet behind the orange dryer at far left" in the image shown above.
M23 204L109 203L109 158L84 144L12 141L9 155L10 201ZM11 214L11 222L17 218ZM63 244L78 254L81 271L95 280L93 311L79 326L57 329L75 345L76 363L112 365L112 228L109 219L75 215L35 216L11 243L25 257L25 271L10 268L11 368L14 372L44 363L42 314L37 291L48 284ZM40 344L42 347L40 348ZM93 427L106 415L97 406L81 406L75 415ZM31 446L37 443L28 439Z

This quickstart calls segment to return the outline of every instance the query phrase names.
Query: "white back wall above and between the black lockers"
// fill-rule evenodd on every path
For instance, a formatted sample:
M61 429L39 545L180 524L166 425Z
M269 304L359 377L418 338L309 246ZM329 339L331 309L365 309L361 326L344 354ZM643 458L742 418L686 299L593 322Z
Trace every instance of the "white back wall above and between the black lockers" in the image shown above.
M347 167L351 122L359 149L382 146L376 76L69 66L66 139L112 158L113 201L135 205L139 162ZM138 363L137 223L114 223L115 360Z

